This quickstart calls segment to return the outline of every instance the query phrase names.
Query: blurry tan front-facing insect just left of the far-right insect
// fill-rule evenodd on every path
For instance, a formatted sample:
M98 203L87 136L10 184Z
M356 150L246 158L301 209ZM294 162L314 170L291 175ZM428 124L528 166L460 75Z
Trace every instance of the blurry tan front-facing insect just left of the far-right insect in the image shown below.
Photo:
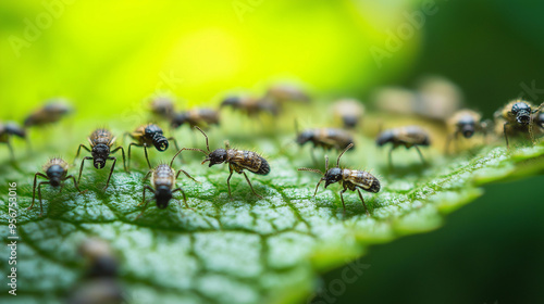
M456 140L459 135L465 138L471 138L474 132L482 131L486 132L486 123L481 122L482 115L472 110L460 110L457 111L454 116L452 116L447 122L447 127L449 135L446 138L446 153L449 151L449 143L452 140Z

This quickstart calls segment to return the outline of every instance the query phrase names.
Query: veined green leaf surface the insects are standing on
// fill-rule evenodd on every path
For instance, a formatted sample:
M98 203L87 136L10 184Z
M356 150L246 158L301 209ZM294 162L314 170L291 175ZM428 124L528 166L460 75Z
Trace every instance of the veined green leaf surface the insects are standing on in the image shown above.
M95 122L92 123L95 124ZM60 138L60 128L34 134L39 151L25 154L17 145L18 162L1 165L1 236L8 237L8 182L17 182L17 296L0 286L0 299L11 303L54 303L65 296L81 279L83 264L76 246L88 237L111 242L121 261L121 281L131 303L294 303L307 301L316 288L319 273L338 267L361 256L369 245L388 242L404 235L436 229L445 214L482 195L481 185L520 178L544 170L544 147L514 149L485 147L475 154L442 156L435 150L423 151L430 165L422 165L413 150L394 152L395 170L388 170L385 151L374 148L371 139L357 136L357 149L348 152L342 164L351 168L370 168L379 176L382 191L363 193L371 217L357 193L347 192L346 215L338 186L322 188L312 198L320 176L299 173L312 167L308 148L287 144L293 134L274 129L269 137L250 136L256 127L226 126L209 132L211 145L219 148L224 139L239 148L258 148L270 161L269 176L248 174L256 191L252 195L240 175L232 178L233 200L227 197L225 166L209 168L199 164L202 155L183 154L182 166L201 183L183 177L178 180L188 197L190 210L171 203L158 210L149 203L140 218L143 177L146 174L141 150L134 150L133 169L112 177L112 185L101 189L107 169L96 170L87 163L78 194L66 183L62 193L45 187L44 216L39 203L32 211L32 181L49 153L70 155L76 144L85 142L91 131L89 123ZM113 124L114 125L114 124ZM113 128L121 134L124 129ZM200 135L188 130L176 135L184 147L200 147ZM193 142L190 138L193 137ZM186 140L188 139L188 140ZM126 147L126 143L124 144ZM152 163L168 161L174 151L150 150ZM316 151L318 160L323 153ZM331 159L336 152L329 153ZM7 160L7 154L1 154ZM118 155L120 157L120 155ZM71 168L77 174L79 161ZM181 165L182 164L182 165ZM323 162L320 162L323 166ZM148 181L146 181L148 182ZM151 198L149 198L151 200ZM9 249L0 249L0 269L7 274ZM10 297L8 297L10 296ZM13 302L15 301L15 302Z

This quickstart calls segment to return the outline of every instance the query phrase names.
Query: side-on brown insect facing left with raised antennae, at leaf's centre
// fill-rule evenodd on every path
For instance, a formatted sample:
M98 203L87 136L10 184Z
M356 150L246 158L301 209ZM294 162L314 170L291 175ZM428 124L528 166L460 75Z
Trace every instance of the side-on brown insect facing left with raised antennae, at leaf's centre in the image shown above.
M200 129L199 127L197 128L206 138L206 149L208 152L203 151L202 149L197 149L197 148L183 148L183 150L190 150L190 151L198 151L202 152L206 155L206 160L202 161L202 165L206 162L210 162L209 167L222 163L227 163L228 164L228 169L231 170L231 174L228 175L228 178L226 179L226 185L228 187L228 197L232 198L231 194L231 177L233 176L233 172L236 172L237 174L244 174L244 177L247 180L247 183L249 185L249 188L251 188L251 191L254 192L255 195L257 195L259 199L262 199L261 195L257 194L254 190L254 186L251 186L251 182L249 181L249 178L247 177L246 173L244 169L247 169L251 173L258 174L258 175L268 175L270 173L270 166L267 160L262 157L261 155L252 152L252 151L246 151L246 150L237 150L237 149L231 149L228 142L225 142L225 149L215 149L214 151L210 152L210 144L208 143L208 136L206 132ZM181 152L180 151L180 152Z

